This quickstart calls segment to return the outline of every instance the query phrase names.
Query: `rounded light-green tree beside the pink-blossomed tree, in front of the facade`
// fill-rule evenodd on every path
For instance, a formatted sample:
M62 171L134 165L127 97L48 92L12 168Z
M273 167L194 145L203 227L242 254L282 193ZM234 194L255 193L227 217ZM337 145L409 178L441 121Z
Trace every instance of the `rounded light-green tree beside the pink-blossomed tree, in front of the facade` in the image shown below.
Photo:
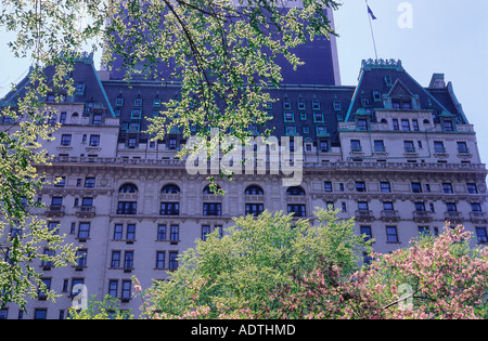
M164 317L279 318L283 302L273 296L288 288L301 292L304 275L317 267L351 274L369 244L354 232L354 222L319 209L316 222L265 211L258 218L234 219L220 238L217 231L198 240L179 259L170 280L142 292L143 314ZM328 278L336 280L334 276ZM157 312L157 313L156 313Z

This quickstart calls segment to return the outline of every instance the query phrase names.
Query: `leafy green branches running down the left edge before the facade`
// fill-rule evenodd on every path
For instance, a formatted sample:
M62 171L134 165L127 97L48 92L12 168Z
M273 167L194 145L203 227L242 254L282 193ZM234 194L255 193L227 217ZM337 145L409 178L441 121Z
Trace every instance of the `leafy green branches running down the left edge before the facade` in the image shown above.
M24 307L27 297L35 298L38 292L53 300L55 294L41 280L36 262L63 266L73 263L76 253L76 248L65 245L63 236L50 229L43 218L30 213L34 208L42 208L36 195L48 183L36 168L49 165L39 141L51 139L56 129L44 123L49 116L39 101L48 89L43 74L33 70L30 80L33 91L16 103L15 109L5 107L1 113L12 123L0 128L0 306L14 302Z

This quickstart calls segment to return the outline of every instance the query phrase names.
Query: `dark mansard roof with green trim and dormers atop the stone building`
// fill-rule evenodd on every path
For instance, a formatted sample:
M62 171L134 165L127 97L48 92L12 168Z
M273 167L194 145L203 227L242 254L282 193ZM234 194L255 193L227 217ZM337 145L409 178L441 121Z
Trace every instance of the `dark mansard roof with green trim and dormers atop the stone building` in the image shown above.
M51 73L51 74L49 74ZM52 69L48 69L52 76ZM445 86L435 74L436 81L428 88L421 87L404 69L400 61L363 61L357 87L284 84L268 89L279 100L267 110L272 119L266 128L273 129L275 136L303 136L305 141L326 139L338 143L337 128L342 120L354 121L355 114L371 115L375 110L393 110L391 99L412 99L414 110L429 110L439 117L454 118L458 123L467 123L462 107L457 101L452 84ZM178 83L162 83L156 80L134 79L130 82L105 78L101 81L90 56L79 60L72 74L75 86L84 83L84 91L76 93L73 103L94 102L95 107L106 109L107 116L120 117L119 141L125 140L127 127L137 126L138 137L146 140L147 117L163 109L163 103L179 95ZM16 99L25 91L27 77L10 92L0 105L15 106ZM439 81L440 80L440 81ZM304 82L306 83L306 82ZM117 101L117 99L123 99ZM154 100L159 99L160 106ZM136 104L136 100L141 102ZM140 109L140 115L138 110ZM264 131L262 127L257 127Z

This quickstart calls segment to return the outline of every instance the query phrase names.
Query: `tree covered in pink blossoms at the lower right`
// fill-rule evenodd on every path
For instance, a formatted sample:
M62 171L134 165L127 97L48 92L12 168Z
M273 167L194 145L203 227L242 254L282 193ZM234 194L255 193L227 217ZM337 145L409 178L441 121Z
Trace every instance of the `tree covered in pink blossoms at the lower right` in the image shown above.
M307 290L275 292L288 318L488 318L488 248L471 248L472 234L446 224L437 237L420 236L407 249L372 254L373 261L339 285L316 268Z

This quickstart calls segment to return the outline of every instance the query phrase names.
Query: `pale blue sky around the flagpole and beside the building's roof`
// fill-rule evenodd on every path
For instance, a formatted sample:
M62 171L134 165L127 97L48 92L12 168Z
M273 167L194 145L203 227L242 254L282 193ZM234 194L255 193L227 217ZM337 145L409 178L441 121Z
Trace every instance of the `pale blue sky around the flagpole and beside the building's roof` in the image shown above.
M368 0L377 17L373 31L380 58L401 60L422 86L434 73L445 74L475 126L481 160L488 162L488 1ZM356 86L361 60L374 58L365 0L343 0L335 13L341 78ZM411 28L398 25L400 4L412 10ZM0 96L22 79L30 64L15 60L0 30Z

